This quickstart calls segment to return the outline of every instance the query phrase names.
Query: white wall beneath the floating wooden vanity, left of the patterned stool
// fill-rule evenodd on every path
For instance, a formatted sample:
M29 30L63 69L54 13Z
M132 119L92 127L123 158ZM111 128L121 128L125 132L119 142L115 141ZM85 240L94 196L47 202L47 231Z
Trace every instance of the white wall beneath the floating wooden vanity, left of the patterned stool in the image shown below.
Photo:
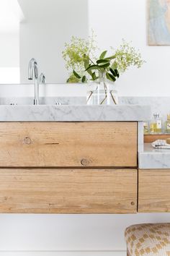
M133 223L169 221L169 213L138 215L4 214L0 217L0 255L3 255L3 252L13 252L12 256L14 256L14 252L16 256L20 256L19 251L22 251L22 256L39 256L38 252L46 252L49 256L50 253L53 256L117 256L117 252L125 250L124 231L126 226ZM28 254L28 252L30 253ZM73 254L73 252L75 253ZM124 256L125 252L120 255Z

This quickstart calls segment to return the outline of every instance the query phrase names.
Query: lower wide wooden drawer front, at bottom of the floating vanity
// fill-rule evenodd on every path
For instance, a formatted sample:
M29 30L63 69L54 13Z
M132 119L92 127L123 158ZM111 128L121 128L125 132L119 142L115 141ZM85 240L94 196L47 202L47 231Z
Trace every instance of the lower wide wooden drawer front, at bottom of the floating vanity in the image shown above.
M136 213L136 169L0 169L0 213Z

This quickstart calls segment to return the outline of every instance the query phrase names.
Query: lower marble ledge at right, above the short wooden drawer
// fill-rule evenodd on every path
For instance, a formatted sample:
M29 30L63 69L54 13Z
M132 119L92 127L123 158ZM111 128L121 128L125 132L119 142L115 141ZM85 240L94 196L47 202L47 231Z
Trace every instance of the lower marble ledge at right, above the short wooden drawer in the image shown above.
M170 168L170 149L155 149L145 143L143 152L138 153L138 163L141 169Z

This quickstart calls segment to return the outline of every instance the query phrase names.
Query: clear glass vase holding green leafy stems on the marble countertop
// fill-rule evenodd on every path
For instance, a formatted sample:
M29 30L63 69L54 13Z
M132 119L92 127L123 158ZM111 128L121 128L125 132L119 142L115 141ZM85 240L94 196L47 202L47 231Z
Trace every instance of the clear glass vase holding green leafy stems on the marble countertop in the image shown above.
M99 72L98 80L87 85L88 105L117 105L118 95L115 82L107 80L105 72Z

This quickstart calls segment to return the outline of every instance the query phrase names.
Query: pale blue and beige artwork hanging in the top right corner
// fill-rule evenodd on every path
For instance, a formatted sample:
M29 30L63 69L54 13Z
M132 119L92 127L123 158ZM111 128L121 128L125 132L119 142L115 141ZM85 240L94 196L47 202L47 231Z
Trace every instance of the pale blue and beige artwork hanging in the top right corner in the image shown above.
M170 0L148 0L148 45L170 46Z

